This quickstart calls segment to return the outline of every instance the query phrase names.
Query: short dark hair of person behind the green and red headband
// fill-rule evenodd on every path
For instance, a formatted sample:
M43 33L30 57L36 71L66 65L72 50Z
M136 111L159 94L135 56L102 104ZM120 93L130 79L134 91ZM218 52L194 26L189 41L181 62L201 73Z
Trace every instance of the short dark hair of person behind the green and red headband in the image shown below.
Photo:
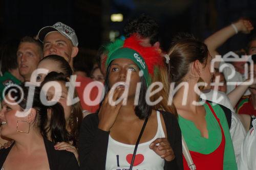
M123 30L125 37L130 37L132 34L138 33L143 38L150 38L151 45L154 45L158 41L159 26L153 18L145 14L129 20Z

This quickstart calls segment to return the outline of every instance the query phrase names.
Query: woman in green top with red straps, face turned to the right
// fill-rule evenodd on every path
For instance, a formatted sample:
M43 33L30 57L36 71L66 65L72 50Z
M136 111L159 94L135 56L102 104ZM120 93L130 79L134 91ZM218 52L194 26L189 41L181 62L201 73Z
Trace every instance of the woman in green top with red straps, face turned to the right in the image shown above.
M200 91L210 89L214 72L207 46L186 34L175 38L168 53L174 105L181 133L197 168L236 170L233 144L225 113L218 104L201 103ZM183 157L183 167L190 164Z

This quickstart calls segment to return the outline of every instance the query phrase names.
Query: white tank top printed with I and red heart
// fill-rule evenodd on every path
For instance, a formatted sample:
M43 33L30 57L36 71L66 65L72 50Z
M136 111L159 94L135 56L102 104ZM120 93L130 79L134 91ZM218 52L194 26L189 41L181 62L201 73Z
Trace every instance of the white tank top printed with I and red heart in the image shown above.
M157 138L164 138L160 113L157 111L157 133L150 141L138 145L134 170L161 170L164 159L151 150L150 144ZM135 145L125 144L114 140L109 135L108 152L106 153L106 170L128 170L132 161Z

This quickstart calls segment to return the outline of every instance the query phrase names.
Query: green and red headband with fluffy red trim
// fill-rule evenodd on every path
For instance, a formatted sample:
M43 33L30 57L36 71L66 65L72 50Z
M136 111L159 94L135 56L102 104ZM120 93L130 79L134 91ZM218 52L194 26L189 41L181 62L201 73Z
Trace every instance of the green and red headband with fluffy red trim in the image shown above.
M163 65L163 60L160 57L161 51L159 48L154 46L145 47L140 45L140 42L138 35L134 34L124 41L118 39L106 46L106 51L108 51L106 67L108 68L109 64L115 59L130 59L143 71L143 76L147 86L149 86L155 66Z

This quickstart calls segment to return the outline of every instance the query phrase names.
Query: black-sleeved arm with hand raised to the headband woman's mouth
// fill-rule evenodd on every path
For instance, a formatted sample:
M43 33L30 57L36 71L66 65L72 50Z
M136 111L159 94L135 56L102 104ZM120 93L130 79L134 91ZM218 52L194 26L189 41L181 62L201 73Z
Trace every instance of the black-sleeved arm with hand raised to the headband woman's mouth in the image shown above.
M123 88L116 88L113 101L117 101ZM122 106L109 102L111 90L106 94L99 113L84 117L79 134L79 163L81 169L105 169L106 152L108 151L110 129Z

